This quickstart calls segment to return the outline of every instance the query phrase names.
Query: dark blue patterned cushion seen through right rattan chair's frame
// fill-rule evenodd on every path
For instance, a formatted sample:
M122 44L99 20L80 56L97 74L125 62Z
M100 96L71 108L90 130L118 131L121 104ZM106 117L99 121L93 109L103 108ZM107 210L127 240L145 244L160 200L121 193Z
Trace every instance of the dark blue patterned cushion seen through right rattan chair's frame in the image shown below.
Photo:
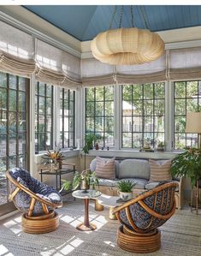
M162 205L163 200L163 205ZM154 211L157 211L159 214L167 214L170 209L170 191L168 188L164 189L164 199L163 199L163 190L157 193L157 201L156 208ZM149 206L151 209L154 209L155 203L155 194L146 197L143 202L145 205ZM167 205L167 206L166 206ZM133 222L139 228L144 230L144 232L149 232L152 229L156 229L157 227L163 225L167 220L159 219L157 217L153 217L149 212L145 211L145 209L139 205L139 203L135 203L129 206ZM127 220L126 210L122 209L120 211L120 217L123 223L127 226L127 228L132 229L130 223ZM152 218L152 219L151 219Z

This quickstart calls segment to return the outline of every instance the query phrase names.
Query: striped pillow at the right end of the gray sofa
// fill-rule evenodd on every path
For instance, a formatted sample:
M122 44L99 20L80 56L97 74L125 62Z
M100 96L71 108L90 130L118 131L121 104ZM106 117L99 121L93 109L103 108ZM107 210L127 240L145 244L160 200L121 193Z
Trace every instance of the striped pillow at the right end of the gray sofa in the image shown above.
M170 173L171 160L151 160L151 173L149 182L172 181Z

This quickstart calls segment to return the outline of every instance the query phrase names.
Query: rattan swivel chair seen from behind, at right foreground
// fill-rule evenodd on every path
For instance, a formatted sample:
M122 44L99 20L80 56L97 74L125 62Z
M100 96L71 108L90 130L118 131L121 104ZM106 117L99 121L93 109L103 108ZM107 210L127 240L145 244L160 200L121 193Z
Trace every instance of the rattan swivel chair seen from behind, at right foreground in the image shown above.
M177 186L174 182L165 183L115 207L113 212L121 222L117 232L119 247L133 253L151 253L161 247L157 228L174 214Z

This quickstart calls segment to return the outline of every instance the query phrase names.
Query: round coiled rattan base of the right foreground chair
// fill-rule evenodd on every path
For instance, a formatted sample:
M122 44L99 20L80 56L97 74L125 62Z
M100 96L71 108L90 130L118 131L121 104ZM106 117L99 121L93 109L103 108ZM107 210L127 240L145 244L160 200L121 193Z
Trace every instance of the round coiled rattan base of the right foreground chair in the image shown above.
M151 235L128 235L123 232L121 225L117 233L117 244L121 249L132 253L152 253L156 252L161 247L161 232Z

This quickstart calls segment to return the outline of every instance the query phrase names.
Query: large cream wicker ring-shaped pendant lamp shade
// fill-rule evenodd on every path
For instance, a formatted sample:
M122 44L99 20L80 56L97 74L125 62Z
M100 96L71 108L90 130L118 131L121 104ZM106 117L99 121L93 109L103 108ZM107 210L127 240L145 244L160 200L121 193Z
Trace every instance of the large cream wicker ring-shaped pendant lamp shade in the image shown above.
M150 63L164 53L164 42L147 29L118 28L99 33L91 42L92 55L102 63Z

